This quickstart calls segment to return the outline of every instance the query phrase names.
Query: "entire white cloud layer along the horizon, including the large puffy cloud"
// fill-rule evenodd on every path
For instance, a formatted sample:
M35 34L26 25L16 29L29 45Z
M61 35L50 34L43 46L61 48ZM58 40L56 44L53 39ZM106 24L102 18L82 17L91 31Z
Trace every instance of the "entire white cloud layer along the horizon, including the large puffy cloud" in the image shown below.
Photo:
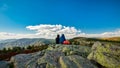
M100 34L86 34L75 27L63 25L40 24L35 26L27 26L28 30L35 31L34 34L15 34L0 32L0 39L18 39L18 38L55 38L57 34L65 34L66 38L73 37L115 37L120 36L120 30L113 32L103 32Z

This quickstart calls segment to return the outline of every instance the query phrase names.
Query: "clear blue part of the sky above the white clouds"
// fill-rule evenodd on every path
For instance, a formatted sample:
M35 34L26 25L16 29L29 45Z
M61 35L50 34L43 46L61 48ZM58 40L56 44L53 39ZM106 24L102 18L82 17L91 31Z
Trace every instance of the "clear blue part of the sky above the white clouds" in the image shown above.
M85 33L120 28L119 0L0 0L0 32L33 33L29 25L61 24Z

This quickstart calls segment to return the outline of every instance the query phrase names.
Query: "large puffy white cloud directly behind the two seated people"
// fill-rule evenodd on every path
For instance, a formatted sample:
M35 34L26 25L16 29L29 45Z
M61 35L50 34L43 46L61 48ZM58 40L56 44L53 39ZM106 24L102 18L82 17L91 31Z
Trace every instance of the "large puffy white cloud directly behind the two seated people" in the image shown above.
M62 25L40 24L36 26L27 26L26 28L36 31L36 35L45 36L47 38L54 38L57 34L65 34L68 38L82 34L81 31L76 29L75 27Z

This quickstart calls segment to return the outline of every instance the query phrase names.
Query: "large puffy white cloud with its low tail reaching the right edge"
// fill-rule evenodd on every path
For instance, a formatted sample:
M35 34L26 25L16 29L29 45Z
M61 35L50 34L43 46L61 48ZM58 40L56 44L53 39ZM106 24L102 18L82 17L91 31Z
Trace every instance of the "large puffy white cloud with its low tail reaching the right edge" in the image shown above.
M29 30L36 31L37 35L45 35L46 37L55 37L56 34L65 34L67 38L73 37L116 37L120 36L120 29L115 30L113 32L103 32L100 34L86 34L82 32L80 29L76 29L75 27L62 26L62 25L36 25L36 26L27 26Z

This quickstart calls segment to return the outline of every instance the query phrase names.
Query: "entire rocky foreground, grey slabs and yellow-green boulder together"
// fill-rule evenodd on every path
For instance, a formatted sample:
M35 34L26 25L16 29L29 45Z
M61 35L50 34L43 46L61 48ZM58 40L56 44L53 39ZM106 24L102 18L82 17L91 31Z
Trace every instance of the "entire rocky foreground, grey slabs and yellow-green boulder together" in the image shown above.
M0 61L0 68L120 68L120 46L49 45L43 51Z

